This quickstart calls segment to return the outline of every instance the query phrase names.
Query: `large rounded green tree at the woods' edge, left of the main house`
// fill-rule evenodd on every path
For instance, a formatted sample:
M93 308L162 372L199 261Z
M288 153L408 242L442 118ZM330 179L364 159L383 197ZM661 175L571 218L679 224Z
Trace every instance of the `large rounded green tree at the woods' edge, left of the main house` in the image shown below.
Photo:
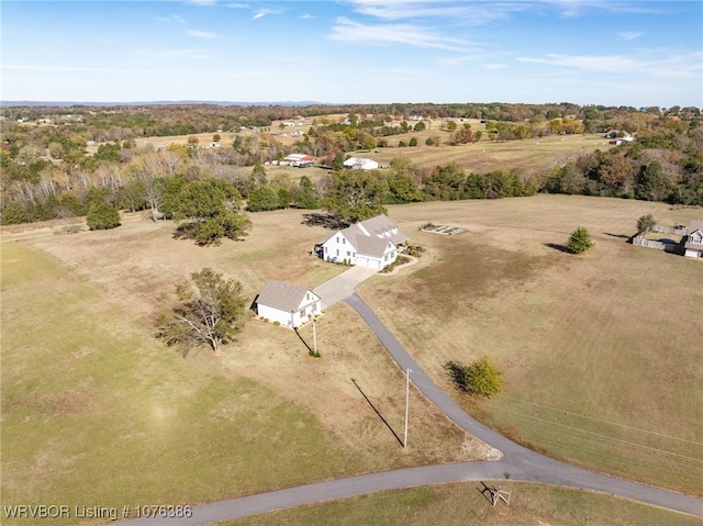
M203 179L188 183L180 192L175 219L181 224L176 235L196 239L198 245L213 245L223 237L238 239L248 235L252 222L242 210L239 192L222 179Z

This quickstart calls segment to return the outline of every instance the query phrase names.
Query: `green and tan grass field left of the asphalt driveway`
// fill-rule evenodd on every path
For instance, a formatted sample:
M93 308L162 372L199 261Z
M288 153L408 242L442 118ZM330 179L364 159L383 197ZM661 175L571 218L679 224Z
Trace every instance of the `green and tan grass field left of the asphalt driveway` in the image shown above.
M494 455L416 392L414 446L400 447L352 378L402 436L404 377L346 305L320 320L319 360L257 320L222 359L154 338L176 283L205 266L250 299L270 278L314 287L342 271L308 254L325 231L303 219L254 215L246 240L211 248L142 214L109 232L3 231L2 503L199 503Z

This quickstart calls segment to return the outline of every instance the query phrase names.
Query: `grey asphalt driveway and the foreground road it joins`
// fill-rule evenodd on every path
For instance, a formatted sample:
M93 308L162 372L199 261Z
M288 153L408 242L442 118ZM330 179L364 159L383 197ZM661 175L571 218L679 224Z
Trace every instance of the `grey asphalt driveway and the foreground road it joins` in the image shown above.
M503 452L503 458L496 461L427 466L337 479L193 506L191 517L142 518L126 521L124 524L133 526L157 524L197 526L383 490L445 482L501 479L594 490L690 515L703 516L703 501L700 499L574 468L536 454L489 429L464 412L434 384L373 311L356 293L347 295L344 301L359 313L376 333L398 366L403 371L411 369L413 383L425 396L467 433L500 449Z

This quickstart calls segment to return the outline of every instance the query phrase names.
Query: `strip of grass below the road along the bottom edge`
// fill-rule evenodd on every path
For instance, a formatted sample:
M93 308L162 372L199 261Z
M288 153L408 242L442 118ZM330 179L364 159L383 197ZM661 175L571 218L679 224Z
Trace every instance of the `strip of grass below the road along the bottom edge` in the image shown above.
M500 481L511 492L510 506L500 501L495 507L481 495L479 482L422 486L388 491L294 510L267 513L223 526L261 526L301 524L366 526L383 525L699 525L688 515L668 512L646 504L591 492L554 486ZM487 493L488 494L488 493Z

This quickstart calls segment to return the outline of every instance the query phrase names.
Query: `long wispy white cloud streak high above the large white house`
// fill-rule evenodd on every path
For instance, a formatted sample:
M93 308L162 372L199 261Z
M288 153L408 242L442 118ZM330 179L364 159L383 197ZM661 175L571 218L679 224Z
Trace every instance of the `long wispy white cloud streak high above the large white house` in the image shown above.
M346 18L337 19L328 35L334 41L364 44L406 44L415 47L466 52L470 42L433 34L425 27L412 24L365 25Z

